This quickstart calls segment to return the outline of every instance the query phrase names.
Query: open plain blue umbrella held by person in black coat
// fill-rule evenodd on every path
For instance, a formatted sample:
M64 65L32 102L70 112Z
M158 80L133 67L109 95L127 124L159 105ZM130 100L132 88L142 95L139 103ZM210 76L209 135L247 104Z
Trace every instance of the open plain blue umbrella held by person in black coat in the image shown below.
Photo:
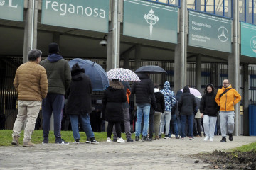
M107 89L109 86L107 73L99 64L80 58L75 58L68 62L70 68L72 68L75 63L78 63L81 68L85 69L85 74L90 77L90 81L92 82L92 91L103 91Z

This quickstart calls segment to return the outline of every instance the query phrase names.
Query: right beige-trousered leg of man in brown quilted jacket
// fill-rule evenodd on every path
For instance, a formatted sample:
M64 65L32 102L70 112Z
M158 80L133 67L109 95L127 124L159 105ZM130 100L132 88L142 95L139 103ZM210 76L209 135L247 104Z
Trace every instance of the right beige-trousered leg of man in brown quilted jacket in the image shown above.
M23 142L28 143L31 141L31 135L35 129L36 118L40 111L41 102L40 101L26 101L27 105L27 123L24 129Z

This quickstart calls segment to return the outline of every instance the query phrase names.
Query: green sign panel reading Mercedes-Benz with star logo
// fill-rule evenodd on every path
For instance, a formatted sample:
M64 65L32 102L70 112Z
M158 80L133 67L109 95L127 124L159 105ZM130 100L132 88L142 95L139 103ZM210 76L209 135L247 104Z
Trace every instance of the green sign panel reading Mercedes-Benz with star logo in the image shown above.
M231 24L228 18L189 11L188 45L231 52Z

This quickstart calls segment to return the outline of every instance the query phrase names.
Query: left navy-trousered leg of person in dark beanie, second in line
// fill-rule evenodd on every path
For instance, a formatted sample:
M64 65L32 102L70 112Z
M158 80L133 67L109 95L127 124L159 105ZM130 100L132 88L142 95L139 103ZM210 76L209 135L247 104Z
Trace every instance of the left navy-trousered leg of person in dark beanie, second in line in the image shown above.
M48 135L50 131L50 117L53 113L52 108L52 94L47 94L42 101L42 115L43 115L43 140L48 142Z

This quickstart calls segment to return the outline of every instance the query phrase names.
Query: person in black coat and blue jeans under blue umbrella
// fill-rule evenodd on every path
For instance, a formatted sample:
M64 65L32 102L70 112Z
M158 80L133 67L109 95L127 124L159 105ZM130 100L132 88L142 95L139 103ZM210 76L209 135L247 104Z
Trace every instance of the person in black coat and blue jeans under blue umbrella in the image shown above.
M78 129L78 118L81 118L82 129L87 136L87 143L98 144L92 132L90 124L90 113L92 112L92 84L90 78L85 74L85 69L81 69L79 64L73 65L71 70L72 81L67 91L68 101L66 103L66 113L70 115L70 122L75 142L80 143Z

